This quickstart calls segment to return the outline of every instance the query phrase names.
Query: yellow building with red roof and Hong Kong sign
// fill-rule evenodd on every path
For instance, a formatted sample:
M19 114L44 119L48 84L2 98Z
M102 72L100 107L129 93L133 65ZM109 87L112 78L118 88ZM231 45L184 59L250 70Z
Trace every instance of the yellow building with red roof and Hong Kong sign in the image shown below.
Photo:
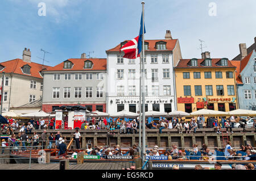
M238 109L236 67L228 58L181 59L174 69L177 110Z

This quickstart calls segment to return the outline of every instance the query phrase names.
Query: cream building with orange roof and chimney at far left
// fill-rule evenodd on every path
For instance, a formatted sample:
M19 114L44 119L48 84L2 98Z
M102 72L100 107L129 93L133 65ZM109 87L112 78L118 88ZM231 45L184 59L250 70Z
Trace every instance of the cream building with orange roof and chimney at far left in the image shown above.
M22 59L1 62L0 77L5 73L2 112L42 99L42 70L48 68L50 66L31 62L31 52L27 48L23 50Z

